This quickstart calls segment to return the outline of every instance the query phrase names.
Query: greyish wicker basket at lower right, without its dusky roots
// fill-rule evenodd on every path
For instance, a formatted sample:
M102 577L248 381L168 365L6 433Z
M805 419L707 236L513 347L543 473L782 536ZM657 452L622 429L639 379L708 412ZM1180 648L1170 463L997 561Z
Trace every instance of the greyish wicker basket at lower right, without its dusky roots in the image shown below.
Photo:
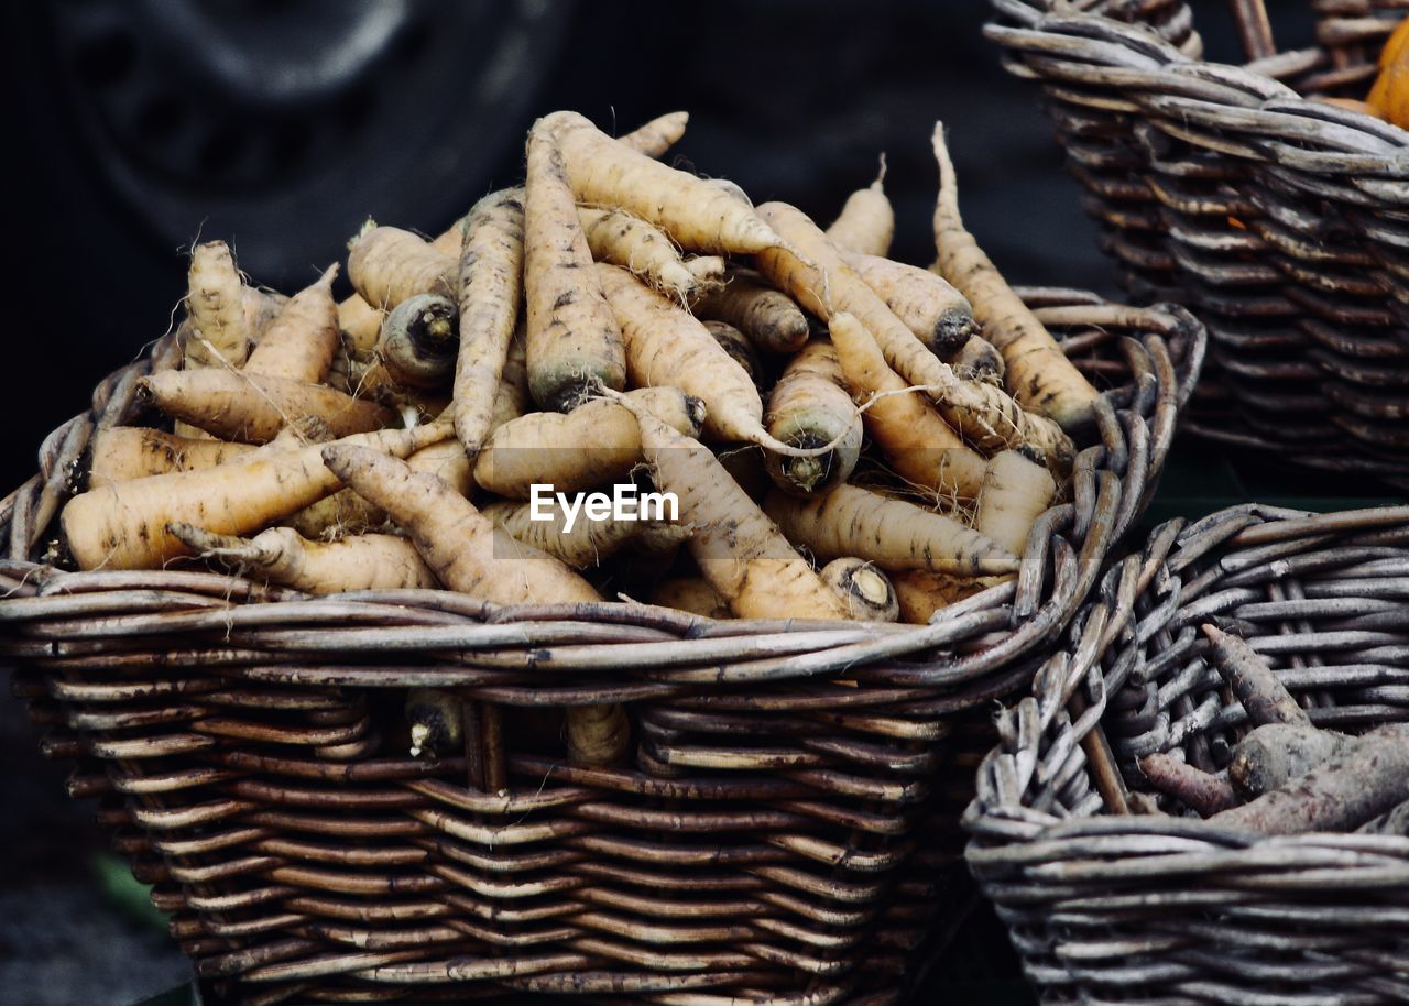
M1402 1003L1409 838L1258 838L1116 813L1134 759L1226 766L1246 713L1202 657L1244 635L1315 723L1409 720L1409 507L1243 506L1113 565L1065 652L999 723L968 861L1044 1002Z

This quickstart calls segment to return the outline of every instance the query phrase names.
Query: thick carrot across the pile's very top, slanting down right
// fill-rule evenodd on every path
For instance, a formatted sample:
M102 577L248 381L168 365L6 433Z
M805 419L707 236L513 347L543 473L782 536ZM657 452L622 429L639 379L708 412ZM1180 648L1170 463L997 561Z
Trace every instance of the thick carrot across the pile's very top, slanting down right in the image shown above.
M579 201L628 210L696 251L724 255L776 248L782 240L727 192L612 139L573 111L545 120Z

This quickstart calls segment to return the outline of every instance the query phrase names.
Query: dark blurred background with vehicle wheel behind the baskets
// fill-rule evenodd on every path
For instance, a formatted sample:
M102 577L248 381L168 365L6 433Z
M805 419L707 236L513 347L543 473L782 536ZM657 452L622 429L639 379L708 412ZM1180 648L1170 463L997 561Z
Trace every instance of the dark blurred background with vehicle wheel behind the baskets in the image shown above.
M1303 7L1309 4L1296 4ZM1220 0L1195 3L1234 58ZM983 0L51 0L4 4L11 418L4 490L96 382L166 331L185 249L230 241L293 292L368 216L434 234L519 179L534 117L626 131L690 111L682 166L827 221L886 154L895 255L933 258L930 131L969 228L1019 283L1116 293L1037 93L981 38ZM1305 44L1309 20L1278 24ZM121 1006L183 981L92 872L18 704L0 714L0 1000Z

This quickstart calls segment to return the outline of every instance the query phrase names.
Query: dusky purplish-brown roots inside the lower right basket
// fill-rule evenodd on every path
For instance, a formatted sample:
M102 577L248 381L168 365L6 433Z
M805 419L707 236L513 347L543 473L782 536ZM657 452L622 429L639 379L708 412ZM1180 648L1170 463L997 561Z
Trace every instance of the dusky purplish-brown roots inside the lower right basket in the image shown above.
M1409 724L1353 737L1310 716L1244 640L1203 626L1208 661L1243 704L1253 728L1222 772L1164 752L1140 759L1169 810L1258 834L1360 831L1409 836ZM1137 810L1164 813L1155 800Z

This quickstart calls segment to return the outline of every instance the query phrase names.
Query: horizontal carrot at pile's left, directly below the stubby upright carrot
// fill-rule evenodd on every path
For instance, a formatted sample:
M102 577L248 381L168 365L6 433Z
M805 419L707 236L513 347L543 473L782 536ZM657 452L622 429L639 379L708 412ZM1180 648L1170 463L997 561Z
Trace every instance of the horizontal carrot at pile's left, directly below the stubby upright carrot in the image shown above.
M289 378L206 368L163 371L139 382L168 414L221 440L265 444L290 418L317 416L334 435L390 426L392 414L375 402L348 397L323 385Z

